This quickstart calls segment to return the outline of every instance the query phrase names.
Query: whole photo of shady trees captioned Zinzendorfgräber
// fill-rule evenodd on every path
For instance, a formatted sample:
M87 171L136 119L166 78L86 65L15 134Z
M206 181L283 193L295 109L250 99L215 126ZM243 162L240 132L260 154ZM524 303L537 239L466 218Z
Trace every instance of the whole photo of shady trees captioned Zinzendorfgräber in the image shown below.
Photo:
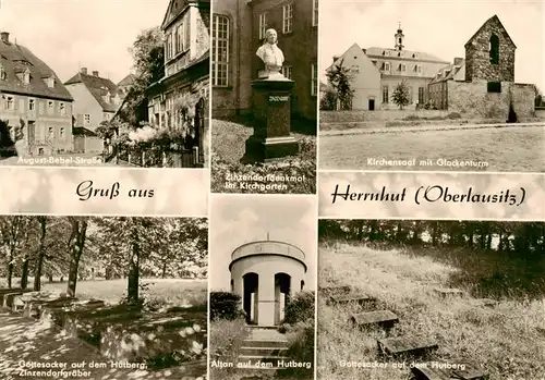
M208 221L0 217L0 378L204 380Z

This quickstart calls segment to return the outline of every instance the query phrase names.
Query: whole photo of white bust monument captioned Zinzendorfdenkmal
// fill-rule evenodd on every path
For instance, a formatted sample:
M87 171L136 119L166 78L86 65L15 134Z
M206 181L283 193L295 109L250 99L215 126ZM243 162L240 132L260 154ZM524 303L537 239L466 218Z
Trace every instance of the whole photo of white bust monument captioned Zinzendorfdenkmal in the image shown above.
M315 194L318 0L213 10L213 193Z

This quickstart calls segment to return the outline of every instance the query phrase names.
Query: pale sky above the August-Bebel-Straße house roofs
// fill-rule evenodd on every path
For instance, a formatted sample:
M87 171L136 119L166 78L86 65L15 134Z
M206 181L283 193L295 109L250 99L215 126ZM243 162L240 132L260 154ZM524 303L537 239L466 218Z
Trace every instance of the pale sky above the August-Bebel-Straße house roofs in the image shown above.
M114 83L132 69L129 48L162 23L169 0L0 0L0 29L68 81L80 68Z

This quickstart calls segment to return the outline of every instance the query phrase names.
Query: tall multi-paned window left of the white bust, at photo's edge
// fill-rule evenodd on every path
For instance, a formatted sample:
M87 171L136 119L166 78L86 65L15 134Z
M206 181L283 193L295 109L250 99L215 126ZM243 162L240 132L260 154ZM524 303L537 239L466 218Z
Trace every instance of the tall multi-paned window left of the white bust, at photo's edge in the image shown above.
M229 19L214 15L211 46L211 84L217 87L229 85Z

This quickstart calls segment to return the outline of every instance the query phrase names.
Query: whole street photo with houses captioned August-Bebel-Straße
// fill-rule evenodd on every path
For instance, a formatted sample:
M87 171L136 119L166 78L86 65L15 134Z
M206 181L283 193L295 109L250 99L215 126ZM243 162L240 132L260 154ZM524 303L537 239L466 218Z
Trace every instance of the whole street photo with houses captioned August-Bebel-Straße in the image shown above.
M0 164L209 167L209 0L2 1Z

